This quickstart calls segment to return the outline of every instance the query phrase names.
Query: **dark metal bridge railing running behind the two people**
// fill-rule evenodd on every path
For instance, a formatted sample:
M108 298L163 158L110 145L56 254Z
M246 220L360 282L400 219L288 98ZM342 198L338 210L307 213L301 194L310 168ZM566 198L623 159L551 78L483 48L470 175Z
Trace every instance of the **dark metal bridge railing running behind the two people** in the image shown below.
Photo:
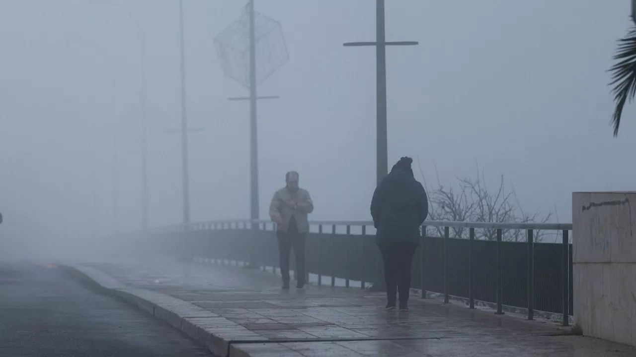
M442 232L438 236L427 234ZM426 221L411 273L413 288L506 307L562 314L568 325L572 311L572 224ZM467 230L467 231L466 231ZM170 252L217 261L251 262L276 273L279 253L275 224L268 220L193 222L155 229ZM488 231L489 239L483 238ZM506 241L509 232L521 241ZM552 231L558 243L537 241L537 232ZM518 238L520 234L516 234ZM373 222L313 221L307 235L307 273L319 285L365 288L382 281L382 260ZM519 239L518 239L519 240ZM293 260L293 259L292 259ZM311 277L310 277L311 278Z

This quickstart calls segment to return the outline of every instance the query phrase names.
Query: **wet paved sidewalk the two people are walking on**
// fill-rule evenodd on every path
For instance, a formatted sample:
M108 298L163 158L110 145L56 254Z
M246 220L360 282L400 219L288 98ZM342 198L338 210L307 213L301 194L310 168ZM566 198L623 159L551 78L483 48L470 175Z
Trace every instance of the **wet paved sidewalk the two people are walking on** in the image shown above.
M76 272L198 340L219 356L634 356L629 346L567 335L553 323L411 297L307 286L238 267L174 262L90 264Z

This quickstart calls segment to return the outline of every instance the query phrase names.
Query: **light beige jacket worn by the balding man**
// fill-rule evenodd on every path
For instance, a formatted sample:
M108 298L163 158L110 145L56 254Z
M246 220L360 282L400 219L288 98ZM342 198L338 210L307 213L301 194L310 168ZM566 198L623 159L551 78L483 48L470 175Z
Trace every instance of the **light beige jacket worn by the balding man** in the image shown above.
M292 215L296 218L298 231L305 233L309 231L307 221L308 213L314 211L314 202L309 192L305 189L298 189L296 192L289 192L287 187L276 191L270 204L270 218L275 222L279 231L287 232L289 221Z

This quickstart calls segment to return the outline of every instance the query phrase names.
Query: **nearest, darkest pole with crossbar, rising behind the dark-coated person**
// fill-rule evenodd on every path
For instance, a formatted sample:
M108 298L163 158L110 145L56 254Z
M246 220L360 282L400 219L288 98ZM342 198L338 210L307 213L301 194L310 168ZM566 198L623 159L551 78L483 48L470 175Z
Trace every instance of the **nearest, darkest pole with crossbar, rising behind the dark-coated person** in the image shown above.
M387 144L387 46L413 46L417 41L396 41L387 42L385 39L384 27L384 0L376 0L376 38L375 42L349 42L344 46L375 46L376 58L376 181L384 179L389 171L389 153ZM382 276L382 269L378 271L378 276ZM373 290L384 290L384 280L375 281Z

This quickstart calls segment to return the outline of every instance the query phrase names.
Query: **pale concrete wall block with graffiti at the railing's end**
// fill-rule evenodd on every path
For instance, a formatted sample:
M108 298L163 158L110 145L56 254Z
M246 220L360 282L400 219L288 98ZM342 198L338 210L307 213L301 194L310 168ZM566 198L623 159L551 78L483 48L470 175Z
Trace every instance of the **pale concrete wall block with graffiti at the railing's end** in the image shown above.
M636 346L635 215L636 192L572 194L574 320L584 335L632 346Z

